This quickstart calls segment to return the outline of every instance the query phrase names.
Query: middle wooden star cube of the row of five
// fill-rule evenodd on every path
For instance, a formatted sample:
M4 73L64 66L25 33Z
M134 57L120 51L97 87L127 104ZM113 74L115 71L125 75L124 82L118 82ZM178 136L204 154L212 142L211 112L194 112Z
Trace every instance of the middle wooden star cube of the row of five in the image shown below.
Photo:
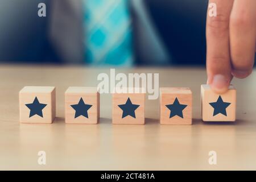
M123 88L112 94L112 123L144 125L146 92L143 88Z

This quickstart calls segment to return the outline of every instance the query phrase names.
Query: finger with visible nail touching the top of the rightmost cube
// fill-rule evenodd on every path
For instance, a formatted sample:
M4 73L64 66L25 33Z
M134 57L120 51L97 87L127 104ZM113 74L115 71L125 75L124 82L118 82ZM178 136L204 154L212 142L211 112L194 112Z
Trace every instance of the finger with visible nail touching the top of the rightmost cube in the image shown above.
M207 76L216 93L228 90L232 80L229 49L229 18L233 0L209 0L217 7L217 16L207 14ZM209 9L208 9L209 13Z

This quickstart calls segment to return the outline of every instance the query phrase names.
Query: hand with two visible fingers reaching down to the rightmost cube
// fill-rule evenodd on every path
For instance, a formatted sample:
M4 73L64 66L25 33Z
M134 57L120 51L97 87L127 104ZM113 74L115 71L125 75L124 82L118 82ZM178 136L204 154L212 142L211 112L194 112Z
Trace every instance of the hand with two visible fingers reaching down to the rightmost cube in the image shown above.
M233 76L245 78L253 71L256 44L255 0L209 0L217 16L207 14L208 84L225 93Z

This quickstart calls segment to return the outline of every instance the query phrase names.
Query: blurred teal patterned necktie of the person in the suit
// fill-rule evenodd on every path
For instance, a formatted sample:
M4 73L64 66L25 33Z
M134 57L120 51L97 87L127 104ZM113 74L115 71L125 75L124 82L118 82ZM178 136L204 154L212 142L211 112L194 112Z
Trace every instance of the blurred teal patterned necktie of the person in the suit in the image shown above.
M132 65L134 56L128 0L82 1L85 10L85 62Z

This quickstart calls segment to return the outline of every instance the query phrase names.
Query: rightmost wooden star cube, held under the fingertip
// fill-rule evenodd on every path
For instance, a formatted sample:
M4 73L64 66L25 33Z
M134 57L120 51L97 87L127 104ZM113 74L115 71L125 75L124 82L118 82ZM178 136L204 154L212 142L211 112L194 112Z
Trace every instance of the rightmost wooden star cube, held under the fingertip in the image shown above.
M214 93L209 85L201 85L201 115L203 121L236 121L236 89L229 86L224 94Z

